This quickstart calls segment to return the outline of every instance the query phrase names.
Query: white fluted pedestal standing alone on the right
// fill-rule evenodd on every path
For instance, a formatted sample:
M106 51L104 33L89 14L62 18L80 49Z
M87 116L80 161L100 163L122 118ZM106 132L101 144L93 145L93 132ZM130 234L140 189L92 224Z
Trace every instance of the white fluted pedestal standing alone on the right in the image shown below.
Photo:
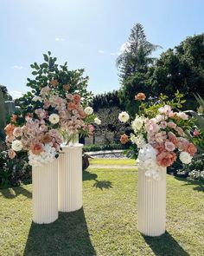
M166 226L166 167L160 173L161 181L145 176L138 169L138 223L139 232L148 236L160 236Z

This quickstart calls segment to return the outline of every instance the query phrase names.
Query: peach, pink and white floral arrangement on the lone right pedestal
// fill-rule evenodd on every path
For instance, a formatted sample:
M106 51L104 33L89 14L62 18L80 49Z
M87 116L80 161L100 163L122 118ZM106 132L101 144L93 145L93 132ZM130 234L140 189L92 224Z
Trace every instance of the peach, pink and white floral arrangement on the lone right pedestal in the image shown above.
M137 158L137 167L154 180L161 179L161 172L177 159L183 164L189 164L197 151L185 132L192 127L191 120L184 112L175 111L175 108L182 107L182 97L177 92L176 102L167 101L165 95L161 95L158 102L152 104L143 102L133 121L130 121L127 112L118 116L120 121L129 122L131 127L129 136L121 135L121 143L131 141L131 151ZM135 96L135 100L140 102L145 98L143 93Z

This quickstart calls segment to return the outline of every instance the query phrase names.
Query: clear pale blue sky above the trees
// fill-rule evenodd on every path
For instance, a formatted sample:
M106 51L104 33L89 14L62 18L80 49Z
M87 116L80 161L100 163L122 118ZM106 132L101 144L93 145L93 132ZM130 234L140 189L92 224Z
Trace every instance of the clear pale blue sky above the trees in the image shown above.
M0 83L15 96L48 50L86 69L88 89L102 93L119 88L115 60L134 23L163 50L204 32L203 0L1 0L0 8Z

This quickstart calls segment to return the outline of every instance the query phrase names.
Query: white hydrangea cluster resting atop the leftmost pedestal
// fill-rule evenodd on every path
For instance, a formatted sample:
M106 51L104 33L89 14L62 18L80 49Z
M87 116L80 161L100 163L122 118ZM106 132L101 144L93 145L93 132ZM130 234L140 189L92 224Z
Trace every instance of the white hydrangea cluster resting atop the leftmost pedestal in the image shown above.
M42 167L43 165L53 162L55 155L55 148L51 147L49 144L43 147L41 154L33 154L32 151L29 150L29 165L32 167Z

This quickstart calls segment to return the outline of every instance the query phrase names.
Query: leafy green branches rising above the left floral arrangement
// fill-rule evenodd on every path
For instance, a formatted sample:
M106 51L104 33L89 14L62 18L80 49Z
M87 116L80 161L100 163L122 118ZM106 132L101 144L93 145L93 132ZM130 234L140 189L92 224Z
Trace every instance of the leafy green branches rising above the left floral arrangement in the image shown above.
M84 99L83 104L86 105L92 99L92 92L87 91L88 76L83 76L85 69L69 70L67 62L63 65L56 63L57 58L43 54L44 62L38 64L34 62L30 67L34 70L32 75L33 79L28 78L27 86L31 89L30 92L23 95L17 101L17 105L21 106L22 113L32 113L34 108L41 108L41 102L32 102L34 93L40 95L41 89L48 85L48 81L54 79L58 82L54 90L61 96L66 96L66 90L63 89L64 85L68 85L69 93L77 93ZM31 103L32 102L32 103Z

